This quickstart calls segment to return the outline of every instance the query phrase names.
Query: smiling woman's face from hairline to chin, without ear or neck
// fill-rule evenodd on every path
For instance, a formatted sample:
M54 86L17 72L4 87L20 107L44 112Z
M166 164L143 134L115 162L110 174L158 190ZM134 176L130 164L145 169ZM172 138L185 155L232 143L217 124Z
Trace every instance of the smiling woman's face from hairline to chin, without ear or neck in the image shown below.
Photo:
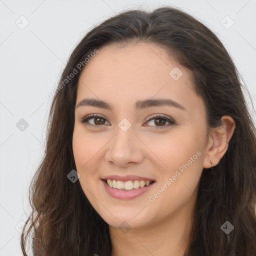
M206 127L189 72L160 46L100 48L79 77L73 131L78 180L93 208L111 226L135 228L191 206Z

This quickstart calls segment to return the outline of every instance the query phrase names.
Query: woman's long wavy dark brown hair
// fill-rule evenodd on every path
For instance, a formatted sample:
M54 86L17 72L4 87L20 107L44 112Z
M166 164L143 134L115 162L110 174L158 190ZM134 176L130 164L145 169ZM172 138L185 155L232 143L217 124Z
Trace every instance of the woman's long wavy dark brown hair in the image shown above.
M212 31L177 8L123 11L95 26L81 39L60 82L94 49L100 50L108 43L132 42L162 46L191 71L194 90L205 103L208 127L220 125L222 115L230 115L236 123L219 164L211 171L202 170L190 242L184 255L255 256L256 130L242 93L242 88L247 88ZM82 68L52 100L45 154L29 189L32 212L20 241L24 255L31 231L31 248L36 256L111 253L108 224L91 206L80 183L67 178L76 169L72 133L81 71ZM234 226L228 234L220 228L225 221Z

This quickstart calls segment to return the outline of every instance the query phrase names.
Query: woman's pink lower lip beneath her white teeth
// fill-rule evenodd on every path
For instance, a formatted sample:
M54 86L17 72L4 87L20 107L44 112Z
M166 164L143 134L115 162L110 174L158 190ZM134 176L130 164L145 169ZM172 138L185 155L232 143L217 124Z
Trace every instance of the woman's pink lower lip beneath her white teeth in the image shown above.
M101 179L103 182L103 185L106 189L106 191L114 198L118 199L134 199L141 195L142 193L146 192L148 189L150 189L156 182L152 182L148 186L135 188L132 190L120 190L116 188L110 187L103 179Z

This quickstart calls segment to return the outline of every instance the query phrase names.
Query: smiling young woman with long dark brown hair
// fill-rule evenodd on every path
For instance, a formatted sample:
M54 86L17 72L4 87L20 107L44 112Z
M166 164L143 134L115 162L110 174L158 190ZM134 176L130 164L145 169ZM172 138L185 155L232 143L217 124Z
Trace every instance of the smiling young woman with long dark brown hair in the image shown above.
M183 11L89 31L31 183L34 255L255 255L255 126L219 39Z

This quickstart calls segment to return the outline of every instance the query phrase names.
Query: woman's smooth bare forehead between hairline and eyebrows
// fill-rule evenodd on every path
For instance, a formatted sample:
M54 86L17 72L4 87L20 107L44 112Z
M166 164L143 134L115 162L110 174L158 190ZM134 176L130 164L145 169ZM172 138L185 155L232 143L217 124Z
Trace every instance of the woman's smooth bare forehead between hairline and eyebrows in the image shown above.
M173 71L174 70L174 71ZM173 79L173 72L180 76ZM159 45L138 43L122 47L110 44L99 48L82 70L77 101L93 96L111 101L175 97L194 101L190 73L175 63ZM175 77L174 77L175 78ZM108 100L109 101L109 100Z

